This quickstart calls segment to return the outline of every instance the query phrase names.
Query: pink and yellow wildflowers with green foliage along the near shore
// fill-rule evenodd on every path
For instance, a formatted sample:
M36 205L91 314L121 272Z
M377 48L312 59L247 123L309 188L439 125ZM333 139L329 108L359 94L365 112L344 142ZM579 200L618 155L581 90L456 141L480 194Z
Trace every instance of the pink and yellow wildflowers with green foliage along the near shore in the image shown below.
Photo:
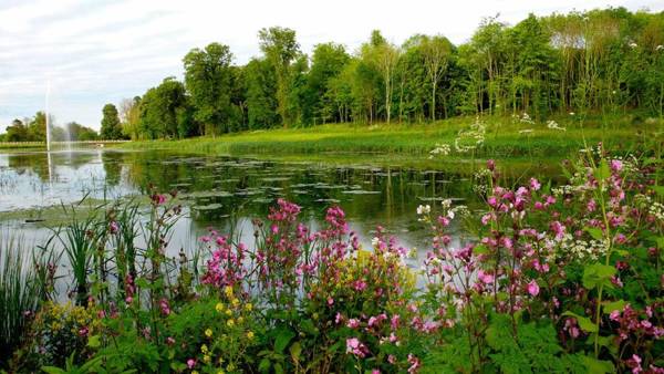
M92 245L63 240L90 259L72 279L76 304L31 314L8 367L662 373L657 163L595 147L567 164L568 185L508 188L488 162L475 177L486 200L478 217L449 200L417 209L432 231L418 270L383 228L363 249L339 207L311 231L300 207L278 200L253 221L251 246L210 230L199 251L176 258L166 256L175 199L153 194L146 220L110 207L84 225ZM453 239L455 219L477 239ZM58 235L72 230L81 222Z

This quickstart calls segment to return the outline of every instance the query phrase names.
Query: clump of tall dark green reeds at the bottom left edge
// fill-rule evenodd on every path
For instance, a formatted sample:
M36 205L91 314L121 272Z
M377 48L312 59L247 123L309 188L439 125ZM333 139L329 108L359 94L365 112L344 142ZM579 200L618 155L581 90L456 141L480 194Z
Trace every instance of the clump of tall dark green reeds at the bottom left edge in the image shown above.
M43 294L30 251L23 238L0 232L0 367L23 340Z

